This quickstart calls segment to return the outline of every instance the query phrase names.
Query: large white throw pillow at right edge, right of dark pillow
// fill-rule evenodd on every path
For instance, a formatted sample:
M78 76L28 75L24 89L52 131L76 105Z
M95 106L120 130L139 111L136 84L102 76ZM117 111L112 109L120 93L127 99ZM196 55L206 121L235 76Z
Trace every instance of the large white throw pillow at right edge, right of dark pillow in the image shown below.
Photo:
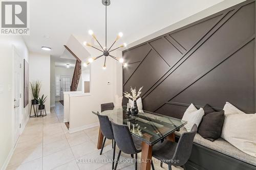
M256 113L246 114L226 102L221 137L244 153L256 157Z

